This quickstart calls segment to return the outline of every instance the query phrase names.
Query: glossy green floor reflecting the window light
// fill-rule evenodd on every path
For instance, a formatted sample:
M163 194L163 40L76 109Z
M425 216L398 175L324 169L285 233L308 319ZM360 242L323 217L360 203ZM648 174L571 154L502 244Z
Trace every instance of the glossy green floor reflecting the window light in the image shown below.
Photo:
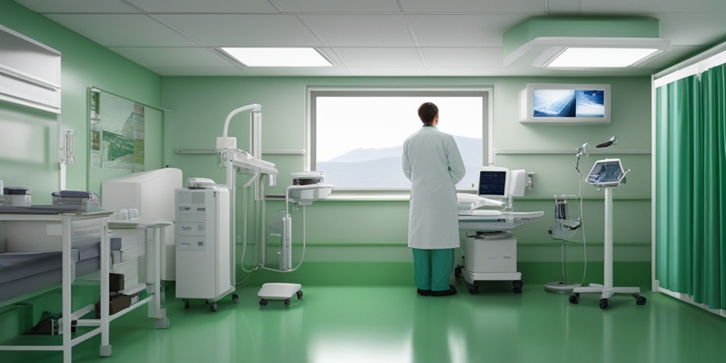
M303 286L303 299L261 307L256 287L237 290L211 312L170 298L171 327L154 328L136 309L111 324L113 356L99 338L74 362L723 362L726 319L669 296L644 292L645 306L615 295L568 295L484 283L478 295L423 297L414 287ZM0 351L0 362L61 362L60 352Z

